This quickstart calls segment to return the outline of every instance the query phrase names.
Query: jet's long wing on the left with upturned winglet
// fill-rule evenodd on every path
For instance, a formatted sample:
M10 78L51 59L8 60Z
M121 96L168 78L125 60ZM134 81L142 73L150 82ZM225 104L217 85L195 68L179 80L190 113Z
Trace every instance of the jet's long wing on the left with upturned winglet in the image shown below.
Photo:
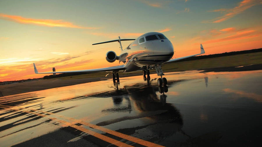
M38 74L36 65L34 63L35 73ZM86 69L86 70L73 70L73 71L55 71L55 72L40 72L40 73L92 73L92 72L102 72L102 71L121 71L125 69L125 65L118 65L113 67L97 68L97 69Z

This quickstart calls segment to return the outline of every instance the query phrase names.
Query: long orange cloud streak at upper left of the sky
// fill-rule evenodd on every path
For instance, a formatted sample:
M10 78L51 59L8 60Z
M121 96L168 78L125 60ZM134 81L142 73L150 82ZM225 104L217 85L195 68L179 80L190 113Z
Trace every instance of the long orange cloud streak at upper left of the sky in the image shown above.
M93 27L82 27L72 24L71 22L66 22L63 20L52 20L52 19L33 19L33 18L24 18L16 15L6 15L0 14L0 19L5 19L9 21L15 21L22 24L35 24L40 26L49 26L49 27L68 27L68 28L86 28L86 29L96 29Z

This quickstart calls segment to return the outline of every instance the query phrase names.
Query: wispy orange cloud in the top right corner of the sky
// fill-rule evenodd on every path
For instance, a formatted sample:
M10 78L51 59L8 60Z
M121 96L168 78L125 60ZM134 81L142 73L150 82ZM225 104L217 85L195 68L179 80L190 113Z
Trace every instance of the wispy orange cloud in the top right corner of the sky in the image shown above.
M202 23L223 22L223 21L226 21L226 20L242 13L243 11L247 10L248 8L251 8L252 6L259 5L259 4L261 4L261 0L243 0L240 3L238 3L238 6L231 8L231 9L221 8L221 9L209 11L209 12L222 12L222 13L224 13L224 15L221 16L221 17L217 17L215 19L212 19L212 20L202 21Z

